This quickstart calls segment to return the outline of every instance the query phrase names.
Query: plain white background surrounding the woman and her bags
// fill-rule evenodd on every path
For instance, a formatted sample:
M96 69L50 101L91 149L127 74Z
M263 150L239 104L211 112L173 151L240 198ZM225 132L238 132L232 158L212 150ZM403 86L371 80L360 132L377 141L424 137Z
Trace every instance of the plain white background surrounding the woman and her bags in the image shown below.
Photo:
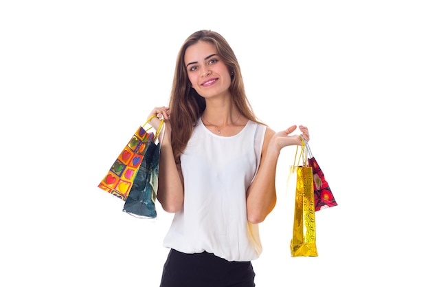
M1 286L159 286L172 215L97 185L156 105L177 52L220 32L257 116L303 124L339 206L293 258L294 147L260 224L262 286L429 286L427 1L1 1Z

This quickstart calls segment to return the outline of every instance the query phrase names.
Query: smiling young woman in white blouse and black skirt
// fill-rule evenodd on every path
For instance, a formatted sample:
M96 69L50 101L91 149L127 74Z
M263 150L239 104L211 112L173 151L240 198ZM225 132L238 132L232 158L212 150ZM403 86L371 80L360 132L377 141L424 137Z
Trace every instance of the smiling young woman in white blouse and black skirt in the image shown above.
M211 30L183 43L169 106L153 115L153 127L165 119L157 200L175 213L160 286L255 286L258 223L275 206L280 150L302 144L290 135L297 126L275 132L257 120L233 50Z

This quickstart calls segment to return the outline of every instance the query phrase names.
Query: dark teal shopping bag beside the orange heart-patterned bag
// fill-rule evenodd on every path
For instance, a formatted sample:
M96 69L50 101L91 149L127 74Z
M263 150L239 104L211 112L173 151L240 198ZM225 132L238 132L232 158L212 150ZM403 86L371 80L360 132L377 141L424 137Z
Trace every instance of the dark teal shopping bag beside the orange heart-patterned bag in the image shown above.
M158 189L160 146L160 142L157 145L149 142L122 211L140 218L157 217L155 199Z

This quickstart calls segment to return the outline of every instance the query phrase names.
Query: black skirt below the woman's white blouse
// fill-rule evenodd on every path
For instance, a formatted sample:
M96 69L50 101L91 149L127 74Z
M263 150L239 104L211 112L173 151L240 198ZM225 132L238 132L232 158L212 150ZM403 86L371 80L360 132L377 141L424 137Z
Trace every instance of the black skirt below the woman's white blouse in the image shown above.
M251 262L229 262L212 253L170 250L160 287L254 287Z

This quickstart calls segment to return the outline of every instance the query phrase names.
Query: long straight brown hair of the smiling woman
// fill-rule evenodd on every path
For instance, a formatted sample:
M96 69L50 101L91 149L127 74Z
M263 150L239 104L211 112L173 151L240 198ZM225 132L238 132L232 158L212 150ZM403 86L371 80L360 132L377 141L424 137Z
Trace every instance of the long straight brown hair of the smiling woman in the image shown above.
M196 121L206 108L205 98L197 94L191 87L185 68L185 50L198 41L212 43L220 59L227 65L232 73L229 92L240 113L249 120L258 122L249 100L245 94L242 74L236 55L229 43L223 36L211 30L201 30L194 32L183 43L177 56L176 68L174 71L172 92L170 94L170 124L172 125L172 149L174 157L179 162L179 156L183 153L188 140L191 137L192 129Z

